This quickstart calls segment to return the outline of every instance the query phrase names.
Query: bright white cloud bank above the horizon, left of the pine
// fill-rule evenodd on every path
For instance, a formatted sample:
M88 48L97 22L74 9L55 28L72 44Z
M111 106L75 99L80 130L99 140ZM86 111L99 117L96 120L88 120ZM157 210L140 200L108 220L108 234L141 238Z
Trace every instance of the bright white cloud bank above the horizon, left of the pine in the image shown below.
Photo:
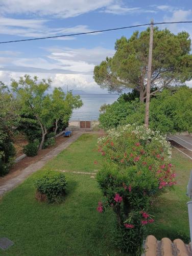
M23 58L5 55L0 60L3 67L0 80L9 83L11 78L18 79L25 73L39 78L52 78L53 86L68 84L69 89L86 90L92 93L106 93L94 82L93 68L106 56L112 56L114 50L102 47L86 49L51 48L49 54L39 58ZM8 54L8 52L7 52Z

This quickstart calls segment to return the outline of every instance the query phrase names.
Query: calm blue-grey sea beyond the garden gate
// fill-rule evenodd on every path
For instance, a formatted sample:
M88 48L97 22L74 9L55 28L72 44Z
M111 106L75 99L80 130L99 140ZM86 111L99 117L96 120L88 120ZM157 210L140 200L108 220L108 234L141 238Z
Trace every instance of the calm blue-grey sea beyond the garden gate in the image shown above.
M74 110L70 121L73 120L98 120L100 106L104 103L111 104L118 98L118 95L112 94L91 94L81 95L83 106Z

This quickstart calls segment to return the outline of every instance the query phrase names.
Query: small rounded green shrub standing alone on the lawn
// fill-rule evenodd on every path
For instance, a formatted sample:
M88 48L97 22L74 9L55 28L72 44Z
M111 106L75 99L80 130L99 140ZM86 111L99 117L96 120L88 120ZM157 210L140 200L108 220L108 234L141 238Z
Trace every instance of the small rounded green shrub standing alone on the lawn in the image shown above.
M66 193L67 181L63 173L48 170L45 175L36 180L37 191L46 195L48 203L61 201Z

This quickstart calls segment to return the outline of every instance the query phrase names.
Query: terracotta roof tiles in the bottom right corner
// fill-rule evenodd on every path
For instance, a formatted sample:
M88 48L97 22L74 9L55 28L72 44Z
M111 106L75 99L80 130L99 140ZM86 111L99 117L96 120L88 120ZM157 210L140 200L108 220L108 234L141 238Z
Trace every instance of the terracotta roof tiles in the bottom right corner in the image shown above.
M191 256L191 246L184 244L181 239L173 242L169 238L157 241L154 236L148 236L145 246L145 256Z

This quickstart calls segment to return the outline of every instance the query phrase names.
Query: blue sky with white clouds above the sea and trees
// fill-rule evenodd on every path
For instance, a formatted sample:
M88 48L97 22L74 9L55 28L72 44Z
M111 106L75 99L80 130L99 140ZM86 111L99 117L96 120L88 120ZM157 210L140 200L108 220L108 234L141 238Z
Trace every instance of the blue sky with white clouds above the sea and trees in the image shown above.
M89 32L154 22L192 20L191 0L0 0L0 41ZM166 25L173 33L191 24ZM165 28L165 25L159 26ZM146 27L138 30L142 31ZM24 74L50 77L53 87L105 94L93 69L114 54L114 43L136 29L0 45L0 81ZM192 87L192 81L187 82Z

